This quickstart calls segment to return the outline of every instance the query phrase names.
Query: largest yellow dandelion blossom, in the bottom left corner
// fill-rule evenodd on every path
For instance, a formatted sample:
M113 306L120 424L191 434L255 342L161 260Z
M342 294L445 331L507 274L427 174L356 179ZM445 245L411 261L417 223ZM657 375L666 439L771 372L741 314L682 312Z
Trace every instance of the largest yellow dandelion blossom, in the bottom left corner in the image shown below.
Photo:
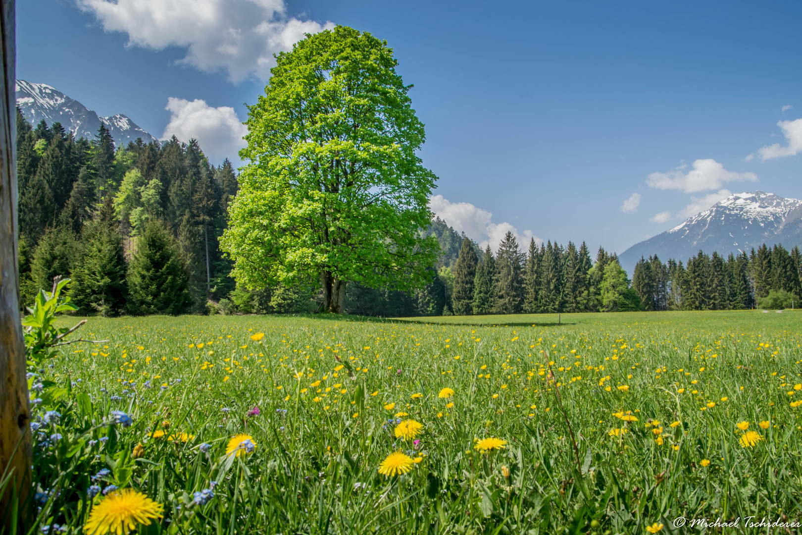
M137 524L150 525L152 519L161 518L163 513L163 505L133 488L124 488L112 492L92 508L83 530L90 535L127 535Z

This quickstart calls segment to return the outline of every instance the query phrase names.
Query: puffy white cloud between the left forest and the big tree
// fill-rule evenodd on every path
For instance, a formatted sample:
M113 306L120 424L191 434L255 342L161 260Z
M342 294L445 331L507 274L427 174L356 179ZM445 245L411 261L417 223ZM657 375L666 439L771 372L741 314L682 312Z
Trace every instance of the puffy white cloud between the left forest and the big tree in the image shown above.
M176 136L187 142L194 138L213 163L219 164L228 158L237 165L237 152L245 147L242 136L248 128L241 123L233 107L211 107L205 100L190 102L171 96L164 109L170 112L170 122L164 128L163 140Z

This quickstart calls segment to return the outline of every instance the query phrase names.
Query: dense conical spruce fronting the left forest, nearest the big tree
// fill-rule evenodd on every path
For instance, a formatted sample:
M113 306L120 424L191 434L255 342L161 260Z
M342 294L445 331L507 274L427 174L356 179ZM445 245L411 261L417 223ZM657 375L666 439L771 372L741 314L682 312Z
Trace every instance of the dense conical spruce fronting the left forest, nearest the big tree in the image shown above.
M129 309L135 314L181 314L192 306L186 265L175 238L148 221L128 267Z

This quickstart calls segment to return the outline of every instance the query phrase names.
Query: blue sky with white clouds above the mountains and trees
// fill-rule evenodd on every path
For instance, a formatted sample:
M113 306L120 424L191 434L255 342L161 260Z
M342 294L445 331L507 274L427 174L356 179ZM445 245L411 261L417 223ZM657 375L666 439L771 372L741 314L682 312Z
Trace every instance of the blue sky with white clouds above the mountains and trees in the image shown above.
M800 19L800 2L26 0L17 75L221 160L272 51L370 31L415 84L437 213L477 241L620 253L729 192L802 197Z

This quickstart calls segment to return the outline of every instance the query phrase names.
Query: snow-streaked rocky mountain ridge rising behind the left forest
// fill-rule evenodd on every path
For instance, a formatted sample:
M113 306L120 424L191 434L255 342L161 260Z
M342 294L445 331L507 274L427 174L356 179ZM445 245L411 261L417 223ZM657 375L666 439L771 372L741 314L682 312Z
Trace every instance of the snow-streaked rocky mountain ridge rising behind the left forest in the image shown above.
M77 137L94 140L100 128L100 122L106 124L115 145L127 145L141 137L145 143L156 141L154 136L138 127L128 117L117 114L111 117L100 117L95 111L64 95L61 91L45 83L30 83L17 80L17 107L30 124L36 126L45 120L48 126L61 123L65 130Z

